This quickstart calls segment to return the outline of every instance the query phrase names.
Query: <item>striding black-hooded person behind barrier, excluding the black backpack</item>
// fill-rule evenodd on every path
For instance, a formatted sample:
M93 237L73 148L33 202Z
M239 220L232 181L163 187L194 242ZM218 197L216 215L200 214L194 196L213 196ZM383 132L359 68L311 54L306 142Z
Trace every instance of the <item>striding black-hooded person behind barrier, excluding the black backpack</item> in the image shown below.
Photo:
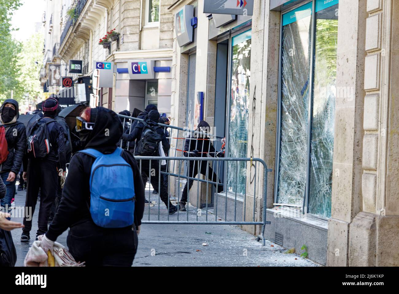
M152 104L150 104L152 105ZM155 130L162 138L162 148L164 150L165 154L168 154L170 144L168 142L168 139L166 139L165 133L163 128L161 128L158 125L158 120L159 120L159 112L157 110L150 110L146 116L144 116L144 122L138 122L137 126L132 130L130 134L123 134L122 139L127 140L127 141L134 141L136 140L136 144L134 146L134 155L139 155L138 152L138 141L142 138L142 131L144 129L144 126L148 126L151 129ZM160 156L159 152L154 154L154 156ZM160 194L160 198L162 202L165 203L166 207L169 208L169 214L174 214L178 208L174 206L168 196L168 191L166 190L166 187L164 186L163 180L160 181L160 174L159 174L159 160L151 160L151 166L150 166L150 160L140 160L140 170L141 170L141 177L143 181L143 185L145 186L147 183L148 178L150 177L151 185L152 188L158 194ZM151 172L153 171L153 172ZM158 191L158 188L160 187L160 191Z

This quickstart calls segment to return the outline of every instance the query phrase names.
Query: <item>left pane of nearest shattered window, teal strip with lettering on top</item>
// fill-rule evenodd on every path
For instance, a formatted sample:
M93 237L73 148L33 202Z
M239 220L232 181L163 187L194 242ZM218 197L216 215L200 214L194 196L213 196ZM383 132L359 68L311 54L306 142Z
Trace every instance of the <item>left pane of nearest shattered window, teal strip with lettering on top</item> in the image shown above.
M312 2L283 15L277 202L302 206L306 188Z

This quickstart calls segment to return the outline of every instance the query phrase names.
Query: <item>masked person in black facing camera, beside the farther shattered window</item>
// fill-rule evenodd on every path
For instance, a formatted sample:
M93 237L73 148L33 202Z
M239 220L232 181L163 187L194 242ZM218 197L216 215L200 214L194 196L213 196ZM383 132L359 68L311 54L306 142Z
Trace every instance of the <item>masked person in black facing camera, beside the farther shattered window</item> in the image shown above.
M205 120L201 120L197 126L196 131L202 132L202 134L198 134L194 132L194 134L190 134L189 138L186 139L186 143L184 144L184 156L189 157L208 157L208 154L212 157L224 157L223 153L215 152L215 148L211 143L209 137L207 137L204 133L209 132L209 124L205 122ZM202 174L203 176L208 176L208 179L212 182L217 182L217 175L213 172L211 166L207 161L189 161L189 171L188 176L192 178L196 178L198 174ZM184 186L182 199L180 200L180 211L186 211L186 202L187 202L187 194L193 186L194 180L188 180L186 185ZM188 190L187 190L188 189ZM220 193L223 191L223 185L220 182L216 187L217 192Z

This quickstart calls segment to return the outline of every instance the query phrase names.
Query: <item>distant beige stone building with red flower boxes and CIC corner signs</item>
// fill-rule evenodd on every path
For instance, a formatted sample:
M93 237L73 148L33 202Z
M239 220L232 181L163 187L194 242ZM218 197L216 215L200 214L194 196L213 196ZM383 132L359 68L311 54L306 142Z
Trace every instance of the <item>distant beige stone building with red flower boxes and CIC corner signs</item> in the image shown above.
M96 105L117 112L125 109L133 112L134 108L143 110L147 104L152 103L158 105L161 113L170 114L173 18L166 7L171 1L61 0L55 1L57 4L53 4L54 1L47 2L47 10L54 10L53 17L59 24L50 34L51 42L46 43L46 48L50 47L50 43L54 43L59 59L53 60L53 57L50 61L60 65L61 78L71 77L75 84L85 84L86 95L81 95L76 86L74 88L76 103L90 103L93 72L101 64L107 65L104 68L109 68L109 72L100 70L99 97ZM48 17L49 11L46 11L46 15ZM108 37L108 40L105 40L109 41L105 44L108 48L105 48L105 42L100 44L100 40L109 35L111 30L119 35L115 40ZM78 62L81 72L70 72L70 60ZM45 65L51 62L45 57ZM143 76L131 71L129 74L128 69L132 68L134 63L142 62L148 64L148 67L152 66L149 74ZM46 75L43 76L43 81L48 82L49 70L44 69L45 66L43 73ZM61 84L62 80L57 80L55 86L48 83L51 92L63 94L66 90Z

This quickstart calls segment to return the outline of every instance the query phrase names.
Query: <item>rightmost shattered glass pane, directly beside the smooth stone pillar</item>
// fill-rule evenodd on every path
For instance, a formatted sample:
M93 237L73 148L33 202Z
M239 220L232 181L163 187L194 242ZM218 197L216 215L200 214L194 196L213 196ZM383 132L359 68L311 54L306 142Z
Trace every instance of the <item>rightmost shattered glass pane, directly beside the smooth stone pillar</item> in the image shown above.
M317 7L317 6L316 6ZM317 9L316 9L317 11ZM338 4L316 12L308 212L331 217Z

